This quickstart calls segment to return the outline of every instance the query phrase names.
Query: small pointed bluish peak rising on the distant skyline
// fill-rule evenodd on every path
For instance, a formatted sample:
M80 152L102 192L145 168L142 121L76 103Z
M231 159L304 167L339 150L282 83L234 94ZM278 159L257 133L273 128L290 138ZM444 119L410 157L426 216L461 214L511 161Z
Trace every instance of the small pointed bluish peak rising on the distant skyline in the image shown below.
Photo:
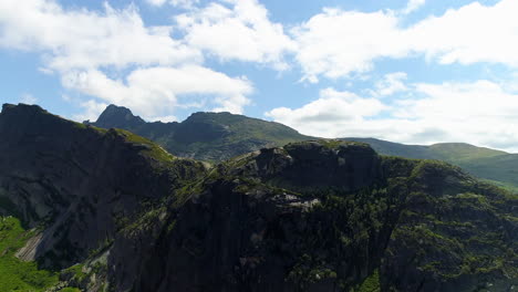
M99 116L95 125L100 127L135 127L145 124L146 122L139 116L135 116L130 108L111 104Z

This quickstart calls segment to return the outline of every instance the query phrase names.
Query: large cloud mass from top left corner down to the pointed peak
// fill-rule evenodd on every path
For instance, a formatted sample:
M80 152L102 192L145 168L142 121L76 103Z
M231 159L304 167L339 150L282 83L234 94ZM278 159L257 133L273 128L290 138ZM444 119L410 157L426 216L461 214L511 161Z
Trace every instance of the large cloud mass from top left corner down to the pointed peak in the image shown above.
M58 73L64 87L96 97L80 102L81 117L115 103L145 117L170 119L199 96L215 100L207 109L241 113L251 83L204 67L201 51L172 38L172 31L146 25L134 6L120 10L105 3L104 11L90 11L64 9L53 0L0 1L0 48L40 53L41 72Z

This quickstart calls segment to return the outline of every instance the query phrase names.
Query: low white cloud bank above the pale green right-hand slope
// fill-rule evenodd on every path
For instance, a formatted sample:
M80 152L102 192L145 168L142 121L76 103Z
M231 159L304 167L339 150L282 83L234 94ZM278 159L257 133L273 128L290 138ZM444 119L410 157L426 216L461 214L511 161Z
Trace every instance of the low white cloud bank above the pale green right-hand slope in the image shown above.
M484 80L419 83L408 88L419 97L396 100L392 107L372 97L343 93L353 97L336 101L324 93L299 108L274 108L266 116L322 137L377 137L410 144L466 142L518 152L517 93Z

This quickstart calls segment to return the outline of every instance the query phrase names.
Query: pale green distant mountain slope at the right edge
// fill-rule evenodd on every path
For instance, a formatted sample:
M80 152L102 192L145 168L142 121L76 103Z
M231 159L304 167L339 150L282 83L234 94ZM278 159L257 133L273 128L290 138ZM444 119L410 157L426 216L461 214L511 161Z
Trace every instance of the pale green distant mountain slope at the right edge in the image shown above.
M371 145L382 155L416 159L444 160L467 170L474 176L501 187L518 190L518 154L509 154L465 143L441 143L431 146L405 145L374 138L343 138Z

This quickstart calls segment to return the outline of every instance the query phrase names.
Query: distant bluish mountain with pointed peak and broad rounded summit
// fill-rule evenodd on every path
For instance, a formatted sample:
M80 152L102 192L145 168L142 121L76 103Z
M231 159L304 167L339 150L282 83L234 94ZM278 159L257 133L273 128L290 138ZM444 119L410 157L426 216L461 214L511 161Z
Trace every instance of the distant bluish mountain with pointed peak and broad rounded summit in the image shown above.
M110 105L95 123L123 128L160 144L169 153L207 161L221 161L263 147L311 137L279 123L230 113L195 113L182 123L146 123L122 106Z

